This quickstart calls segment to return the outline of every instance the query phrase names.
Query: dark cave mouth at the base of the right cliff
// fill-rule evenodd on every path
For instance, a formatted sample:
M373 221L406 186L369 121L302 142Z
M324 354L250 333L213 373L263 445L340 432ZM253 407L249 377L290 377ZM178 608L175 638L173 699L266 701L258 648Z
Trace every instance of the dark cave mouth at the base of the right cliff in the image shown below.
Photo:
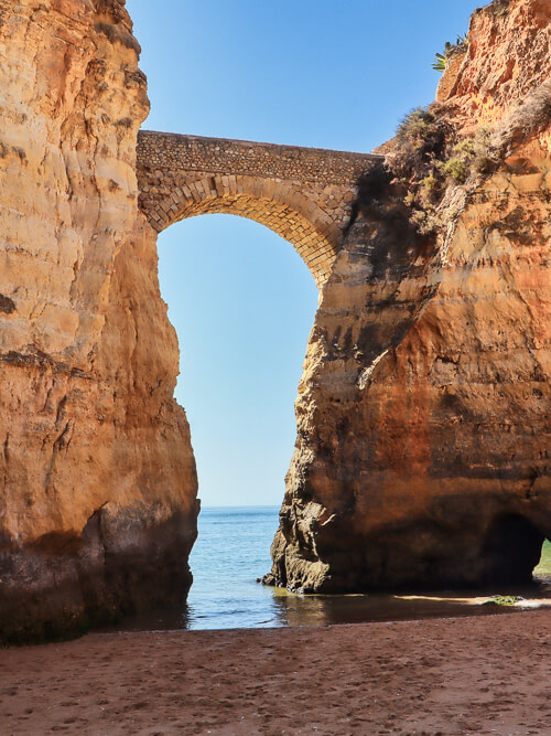
M484 543L485 577L489 585L532 580L545 536L525 516L503 514L489 525Z

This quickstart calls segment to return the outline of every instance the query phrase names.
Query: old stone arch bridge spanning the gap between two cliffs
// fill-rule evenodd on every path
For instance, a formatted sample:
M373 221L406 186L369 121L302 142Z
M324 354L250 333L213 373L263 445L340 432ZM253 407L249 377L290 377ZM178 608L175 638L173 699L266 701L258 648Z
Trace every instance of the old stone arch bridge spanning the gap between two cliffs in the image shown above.
M289 241L324 284L350 218L358 178L381 156L142 130L140 206L155 231L224 212Z

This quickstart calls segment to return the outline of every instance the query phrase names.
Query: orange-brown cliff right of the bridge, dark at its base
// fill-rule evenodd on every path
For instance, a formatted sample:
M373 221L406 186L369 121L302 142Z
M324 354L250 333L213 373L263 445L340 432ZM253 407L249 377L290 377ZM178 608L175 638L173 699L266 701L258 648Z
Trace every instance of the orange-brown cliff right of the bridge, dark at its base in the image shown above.
M445 115L506 145L446 193L440 232L352 226L307 346L268 582L523 582L551 537L550 21L545 0L473 17Z

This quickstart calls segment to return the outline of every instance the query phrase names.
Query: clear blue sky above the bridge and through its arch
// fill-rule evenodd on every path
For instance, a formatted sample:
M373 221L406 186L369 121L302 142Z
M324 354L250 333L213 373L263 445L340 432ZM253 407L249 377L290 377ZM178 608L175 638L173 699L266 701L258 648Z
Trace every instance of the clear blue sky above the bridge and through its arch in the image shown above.
M142 45L144 128L369 151L434 98L436 51L472 0L127 0ZM204 215L159 238L204 505L279 504L317 305L289 243Z

